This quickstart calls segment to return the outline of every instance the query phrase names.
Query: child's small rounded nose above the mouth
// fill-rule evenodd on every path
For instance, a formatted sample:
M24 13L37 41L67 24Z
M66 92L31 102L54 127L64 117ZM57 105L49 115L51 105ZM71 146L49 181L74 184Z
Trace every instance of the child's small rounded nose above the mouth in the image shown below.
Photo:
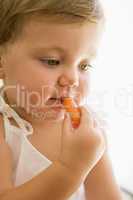
M69 67L63 71L58 79L58 85L60 87L78 87L79 85L79 74L78 70L74 67Z

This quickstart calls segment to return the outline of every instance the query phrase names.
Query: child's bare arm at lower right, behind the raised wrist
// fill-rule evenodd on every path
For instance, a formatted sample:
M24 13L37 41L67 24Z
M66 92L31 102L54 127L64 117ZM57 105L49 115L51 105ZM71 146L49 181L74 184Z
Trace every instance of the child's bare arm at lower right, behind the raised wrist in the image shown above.
M86 200L122 200L107 153L85 180Z

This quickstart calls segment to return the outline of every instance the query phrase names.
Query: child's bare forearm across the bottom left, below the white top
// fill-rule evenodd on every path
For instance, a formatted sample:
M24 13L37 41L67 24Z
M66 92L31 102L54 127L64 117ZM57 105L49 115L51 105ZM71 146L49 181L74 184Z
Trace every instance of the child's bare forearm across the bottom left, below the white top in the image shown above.
M55 162L31 181L3 193L0 200L65 200L79 187L81 181L82 178Z

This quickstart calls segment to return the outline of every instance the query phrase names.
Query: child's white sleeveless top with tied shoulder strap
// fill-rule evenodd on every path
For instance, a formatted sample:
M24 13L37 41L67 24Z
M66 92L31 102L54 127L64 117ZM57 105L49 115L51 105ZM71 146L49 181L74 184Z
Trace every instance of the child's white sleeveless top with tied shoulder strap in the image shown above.
M32 125L22 119L0 95L0 113L3 114L5 140L13 153L14 186L20 186L44 171L52 164L47 157L41 154L28 140L27 136L33 134ZM18 127L12 125L9 118L13 118ZM69 198L69 200L84 200L83 184Z

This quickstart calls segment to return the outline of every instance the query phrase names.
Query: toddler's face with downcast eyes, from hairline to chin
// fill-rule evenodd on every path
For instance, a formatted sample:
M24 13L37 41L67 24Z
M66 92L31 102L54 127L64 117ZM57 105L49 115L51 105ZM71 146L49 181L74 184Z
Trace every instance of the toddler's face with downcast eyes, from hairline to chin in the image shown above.
M45 119L64 115L64 110L55 109L60 100L51 97L73 96L81 105L89 94L88 65L96 53L99 32L99 25L91 23L27 22L1 59L9 102Z

